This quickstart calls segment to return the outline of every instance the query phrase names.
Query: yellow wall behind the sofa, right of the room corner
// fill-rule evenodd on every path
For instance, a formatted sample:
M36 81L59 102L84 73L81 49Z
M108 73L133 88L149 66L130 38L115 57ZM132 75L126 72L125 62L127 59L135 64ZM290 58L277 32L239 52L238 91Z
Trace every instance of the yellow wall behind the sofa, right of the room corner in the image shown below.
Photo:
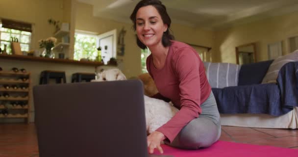
M268 59L268 44L282 41L283 54L289 53L288 37L298 35L298 12L256 21L215 32L214 62L236 63L235 47L256 42L256 60Z

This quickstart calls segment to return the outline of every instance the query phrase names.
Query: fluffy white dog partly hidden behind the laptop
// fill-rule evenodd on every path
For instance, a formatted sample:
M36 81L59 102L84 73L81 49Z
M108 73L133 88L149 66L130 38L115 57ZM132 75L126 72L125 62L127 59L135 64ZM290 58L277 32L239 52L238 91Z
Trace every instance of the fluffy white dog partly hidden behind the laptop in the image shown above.
M126 77L119 69L104 70L96 74L97 78L91 81L125 80ZM178 109L171 103L163 100L150 98L144 95L146 128L150 134L167 123Z

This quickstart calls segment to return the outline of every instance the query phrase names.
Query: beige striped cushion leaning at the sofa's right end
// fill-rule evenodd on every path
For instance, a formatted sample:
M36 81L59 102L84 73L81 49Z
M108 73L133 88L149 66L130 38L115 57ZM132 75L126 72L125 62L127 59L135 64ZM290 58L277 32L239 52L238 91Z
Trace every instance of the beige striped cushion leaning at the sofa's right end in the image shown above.
M276 78L281 67L286 63L293 61L298 61L298 50L274 59L267 71L266 76L263 78L262 83L276 83Z

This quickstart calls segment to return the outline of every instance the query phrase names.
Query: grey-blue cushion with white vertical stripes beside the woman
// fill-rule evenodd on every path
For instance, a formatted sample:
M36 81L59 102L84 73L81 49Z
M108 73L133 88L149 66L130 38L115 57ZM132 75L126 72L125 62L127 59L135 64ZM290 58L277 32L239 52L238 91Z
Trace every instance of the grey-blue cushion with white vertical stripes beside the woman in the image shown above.
M212 88L238 85L240 65L232 63L204 62L205 72Z

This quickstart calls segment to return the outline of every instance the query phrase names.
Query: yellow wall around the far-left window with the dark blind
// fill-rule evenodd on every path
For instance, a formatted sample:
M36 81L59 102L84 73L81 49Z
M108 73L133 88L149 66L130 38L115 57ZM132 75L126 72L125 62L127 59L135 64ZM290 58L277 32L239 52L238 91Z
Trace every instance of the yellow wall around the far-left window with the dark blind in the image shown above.
M48 19L62 21L62 0L0 0L0 18L33 24L31 49L38 49L38 40L53 36Z

